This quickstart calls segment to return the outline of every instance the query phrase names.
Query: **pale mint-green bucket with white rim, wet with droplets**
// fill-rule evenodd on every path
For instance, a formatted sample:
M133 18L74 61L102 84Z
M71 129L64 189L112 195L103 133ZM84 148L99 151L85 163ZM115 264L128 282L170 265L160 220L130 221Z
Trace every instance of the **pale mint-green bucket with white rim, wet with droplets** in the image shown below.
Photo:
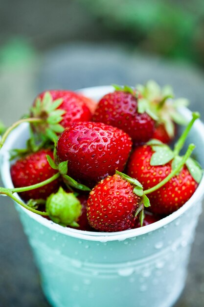
M101 87L81 92L98 100L110 91ZM190 112L182 112L189 120ZM8 150L17 143L23 146L27 135L27 125L20 126L2 149L6 187L12 187ZM204 126L199 120L188 141L197 146L195 153L204 166ZM204 179L171 215L143 228L111 233L64 228L16 204L51 306L173 306L185 284L203 194Z

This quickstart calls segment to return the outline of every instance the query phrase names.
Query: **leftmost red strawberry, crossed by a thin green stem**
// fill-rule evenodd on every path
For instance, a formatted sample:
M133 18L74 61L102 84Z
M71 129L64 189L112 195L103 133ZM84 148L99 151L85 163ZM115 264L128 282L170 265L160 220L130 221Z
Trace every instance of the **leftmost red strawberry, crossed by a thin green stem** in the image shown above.
M53 158L51 150L43 149L37 153L31 153L26 157L17 160L11 166L11 178L16 188L39 183L52 177L58 172L50 167L46 155ZM46 199L51 193L56 192L59 185L60 180L56 179L41 188L19 194L25 201L28 201L29 199Z

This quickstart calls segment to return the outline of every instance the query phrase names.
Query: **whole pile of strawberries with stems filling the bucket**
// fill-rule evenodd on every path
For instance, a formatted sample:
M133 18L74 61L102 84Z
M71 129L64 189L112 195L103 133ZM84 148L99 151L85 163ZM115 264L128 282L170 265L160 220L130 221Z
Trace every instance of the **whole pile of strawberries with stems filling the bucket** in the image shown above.
M169 86L114 86L99 102L78 93L38 95L27 148L15 150L11 177L27 208L68 227L121 231L158 221L195 192L202 170L180 150L193 122ZM187 125L172 150L178 125ZM28 188L24 188L28 187ZM31 187L29 189L29 187ZM14 189L15 190L15 189Z

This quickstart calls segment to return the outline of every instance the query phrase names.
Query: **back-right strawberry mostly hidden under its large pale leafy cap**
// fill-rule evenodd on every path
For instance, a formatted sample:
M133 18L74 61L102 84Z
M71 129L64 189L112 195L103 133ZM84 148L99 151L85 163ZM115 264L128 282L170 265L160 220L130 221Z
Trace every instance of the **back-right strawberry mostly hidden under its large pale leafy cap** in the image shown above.
M138 103L146 105L156 119L153 138L159 139L166 144L170 143L177 132L175 124L186 124L178 108L187 106L187 99L174 99L174 92L171 86L165 85L160 88L153 80L149 80L145 85L136 85L136 89L140 93Z

